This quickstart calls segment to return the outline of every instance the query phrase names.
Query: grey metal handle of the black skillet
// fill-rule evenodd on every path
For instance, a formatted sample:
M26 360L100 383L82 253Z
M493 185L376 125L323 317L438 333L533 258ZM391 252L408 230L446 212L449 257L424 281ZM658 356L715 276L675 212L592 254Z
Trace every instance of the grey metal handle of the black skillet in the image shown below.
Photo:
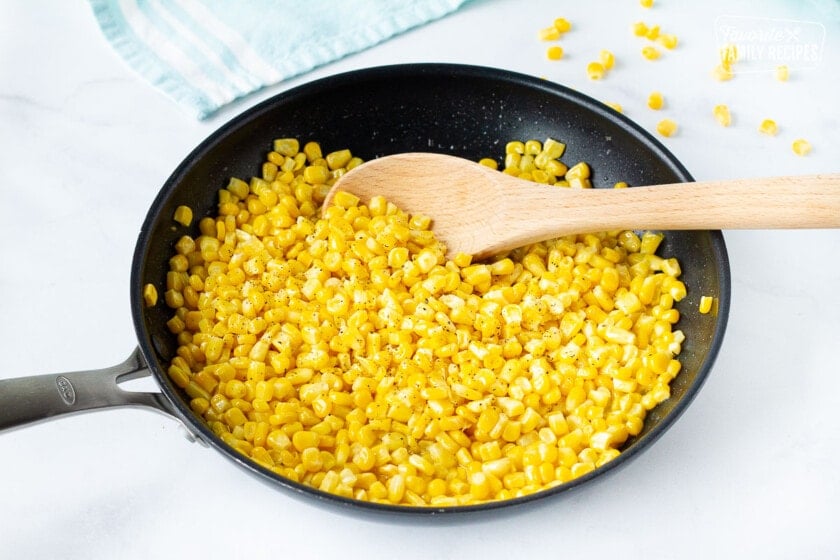
M149 375L137 348L113 367L0 380L0 432L64 414L141 406L175 416L162 393L125 391L119 383Z

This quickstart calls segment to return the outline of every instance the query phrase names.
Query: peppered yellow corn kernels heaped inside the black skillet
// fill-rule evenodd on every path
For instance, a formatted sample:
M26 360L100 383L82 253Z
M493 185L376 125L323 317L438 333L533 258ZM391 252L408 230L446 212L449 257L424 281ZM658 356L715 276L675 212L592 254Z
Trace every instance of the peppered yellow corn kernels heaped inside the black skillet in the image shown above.
M501 172L591 188L564 148L509 142ZM168 374L192 410L283 477L388 504L515 498L617 457L680 371L686 288L656 254L662 235L446 260L430 217L381 197L339 193L321 214L360 163L275 140L260 175L231 179L218 215L176 243L160 303L178 340ZM159 291L145 286L147 305Z

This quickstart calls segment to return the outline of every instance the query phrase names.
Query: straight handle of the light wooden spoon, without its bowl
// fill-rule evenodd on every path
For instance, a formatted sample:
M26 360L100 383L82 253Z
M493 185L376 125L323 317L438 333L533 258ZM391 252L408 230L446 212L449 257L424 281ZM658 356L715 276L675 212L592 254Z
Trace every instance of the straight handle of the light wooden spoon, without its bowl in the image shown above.
M527 211L520 215L532 217L538 237L556 234L560 221L564 229L581 233L840 227L840 174L535 191L529 194L537 200L523 201Z

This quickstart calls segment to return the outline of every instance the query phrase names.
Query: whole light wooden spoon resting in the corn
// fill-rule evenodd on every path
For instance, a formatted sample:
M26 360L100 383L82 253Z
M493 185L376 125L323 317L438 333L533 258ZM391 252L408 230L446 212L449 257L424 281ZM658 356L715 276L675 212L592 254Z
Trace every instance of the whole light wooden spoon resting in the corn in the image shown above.
M405 153L349 171L324 208L338 191L363 202L382 195L409 213L425 214L450 255L478 259L573 233L840 227L840 174L570 189L454 156Z

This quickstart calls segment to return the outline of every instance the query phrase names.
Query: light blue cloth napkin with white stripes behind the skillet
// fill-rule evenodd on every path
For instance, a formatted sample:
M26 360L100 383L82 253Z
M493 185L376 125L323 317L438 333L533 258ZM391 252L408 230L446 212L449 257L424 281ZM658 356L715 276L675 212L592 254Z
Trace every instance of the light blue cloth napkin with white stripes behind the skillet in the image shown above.
M200 119L466 1L89 0L129 66Z

